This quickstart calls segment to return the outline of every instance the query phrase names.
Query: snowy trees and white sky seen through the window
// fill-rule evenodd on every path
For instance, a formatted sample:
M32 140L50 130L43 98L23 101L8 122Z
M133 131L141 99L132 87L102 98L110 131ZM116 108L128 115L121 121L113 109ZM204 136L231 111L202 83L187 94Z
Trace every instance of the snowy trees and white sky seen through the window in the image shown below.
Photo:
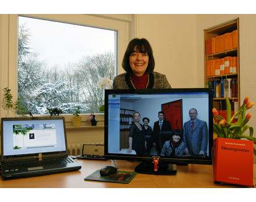
M19 16L18 96L33 114L98 113L116 76L116 31Z

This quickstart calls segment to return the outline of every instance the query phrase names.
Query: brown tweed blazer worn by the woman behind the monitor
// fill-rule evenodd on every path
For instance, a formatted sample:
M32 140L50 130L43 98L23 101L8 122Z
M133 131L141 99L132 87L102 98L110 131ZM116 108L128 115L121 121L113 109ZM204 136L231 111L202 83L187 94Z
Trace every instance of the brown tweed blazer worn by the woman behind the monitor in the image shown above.
M148 88L172 88L166 75L157 72L150 73L150 85ZM117 75L113 80L113 89L133 89L129 81L129 73Z

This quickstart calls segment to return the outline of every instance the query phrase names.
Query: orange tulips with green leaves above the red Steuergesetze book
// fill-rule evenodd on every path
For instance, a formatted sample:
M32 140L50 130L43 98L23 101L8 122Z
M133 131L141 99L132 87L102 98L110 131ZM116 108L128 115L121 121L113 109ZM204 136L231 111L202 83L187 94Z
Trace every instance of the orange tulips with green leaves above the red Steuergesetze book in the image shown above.
M249 102L249 97L246 96L244 99L244 103L237 110L236 113L231 117L231 105L229 99L226 98L226 111L227 117L225 118L219 116L218 110L215 108L212 109L212 113L214 114L214 132L218 135L218 138L230 138L230 139L241 139L246 138L248 140L254 141L256 144L256 138L253 137L253 127L246 125L247 122L251 118L251 113L246 115L246 110L253 107L254 102ZM236 116L239 116L236 122L232 121ZM250 135L244 135L244 132L250 130ZM256 150L254 148L254 154L256 155Z

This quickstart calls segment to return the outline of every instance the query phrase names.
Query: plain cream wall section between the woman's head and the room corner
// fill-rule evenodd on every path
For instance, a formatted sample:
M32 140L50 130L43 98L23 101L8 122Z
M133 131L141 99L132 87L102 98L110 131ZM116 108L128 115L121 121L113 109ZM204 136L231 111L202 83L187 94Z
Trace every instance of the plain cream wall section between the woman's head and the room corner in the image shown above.
M155 71L165 74L172 88L200 87L194 71L195 28L195 14L137 15L137 37L148 39L155 57Z

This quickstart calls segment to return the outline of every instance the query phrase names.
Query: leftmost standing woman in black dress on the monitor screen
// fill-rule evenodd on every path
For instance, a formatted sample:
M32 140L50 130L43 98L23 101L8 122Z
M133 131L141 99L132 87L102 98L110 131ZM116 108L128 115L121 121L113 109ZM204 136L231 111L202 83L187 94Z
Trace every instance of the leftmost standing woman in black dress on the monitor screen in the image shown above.
M131 150L135 150L138 156L144 156L147 152L145 145L144 133L142 130L142 125L140 124L140 113L135 111L133 113L134 122L131 124L130 133L129 133L129 149L128 153L131 153Z

